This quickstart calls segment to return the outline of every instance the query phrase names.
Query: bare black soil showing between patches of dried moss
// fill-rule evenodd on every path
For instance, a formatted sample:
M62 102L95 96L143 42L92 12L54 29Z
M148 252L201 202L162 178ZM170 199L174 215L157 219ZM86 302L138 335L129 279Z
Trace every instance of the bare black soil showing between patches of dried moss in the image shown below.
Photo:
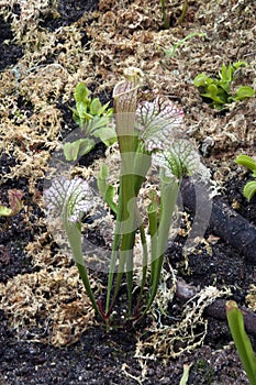
M70 25L89 11L97 9L97 1L59 1L57 11L60 18L54 19L53 14L44 14L41 18L40 28L54 31L62 25ZM15 10L19 15L19 7ZM192 18L192 13L191 13ZM84 43L88 42L85 35ZM22 56L22 47L5 40L13 40L13 34L8 21L0 16L0 70L14 65ZM103 100L104 97L102 97ZM103 100L104 101L104 100ZM67 133L67 128L75 128L69 110L70 103L57 102L64 119L62 136ZM31 105L25 99L20 100L20 107L30 113ZM24 111L23 110L23 111ZM90 165L94 158L103 156L104 147L100 144L82 158L80 165ZM9 152L0 155L1 175L8 174L20 161ZM249 175L246 176L247 179ZM238 174L225 182L222 194L223 200L235 205L248 222L256 226L255 198L248 204L243 197L242 190L245 178L240 179ZM30 210L30 223L24 209L16 216L0 218L0 282L7 283L10 278L25 273L36 272L31 257L25 252L29 242L44 232L45 229L37 221L44 216L36 205L35 194L29 189L29 182L24 178L9 179L1 184L1 204L8 202L8 190L16 188L24 194L24 206ZM42 193L42 180L37 180L36 193ZM192 218L191 218L192 219ZM214 231L209 228L205 239L209 240L211 252L203 243L200 243L188 256L188 268L182 257L182 244L185 239L177 237L169 245L166 260L177 271L178 277L185 279L197 288L215 286L222 288L229 286L232 295L230 298L245 306L246 295L251 284L256 282L256 267L247 264L240 250L232 249L225 239L211 237ZM180 317L183 302L175 297L169 305L169 316ZM231 334L225 320L205 316L208 319L208 332L201 346L183 353L178 359L140 360L134 358L137 336L149 333L145 324L138 324L134 329L118 329L107 332L104 326L94 324L81 336L80 340L71 345L56 348L48 343L34 342L33 331L22 331L18 336L16 330L10 327L7 315L0 310L0 384L1 385L78 385L78 384L174 384L178 385L183 365L192 363L188 384L190 385L243 385L248 384L242 364L234 345L231 343ZM148 318L145 323L151 324ZM168 321L171 322L171 321ZM47 331L45 331L47 334ZM46 336L47 337L47 336ZM256 350L256 337L251 336ZM143 366L145 364L145 367ZM145 375L143 374L145 370Z

